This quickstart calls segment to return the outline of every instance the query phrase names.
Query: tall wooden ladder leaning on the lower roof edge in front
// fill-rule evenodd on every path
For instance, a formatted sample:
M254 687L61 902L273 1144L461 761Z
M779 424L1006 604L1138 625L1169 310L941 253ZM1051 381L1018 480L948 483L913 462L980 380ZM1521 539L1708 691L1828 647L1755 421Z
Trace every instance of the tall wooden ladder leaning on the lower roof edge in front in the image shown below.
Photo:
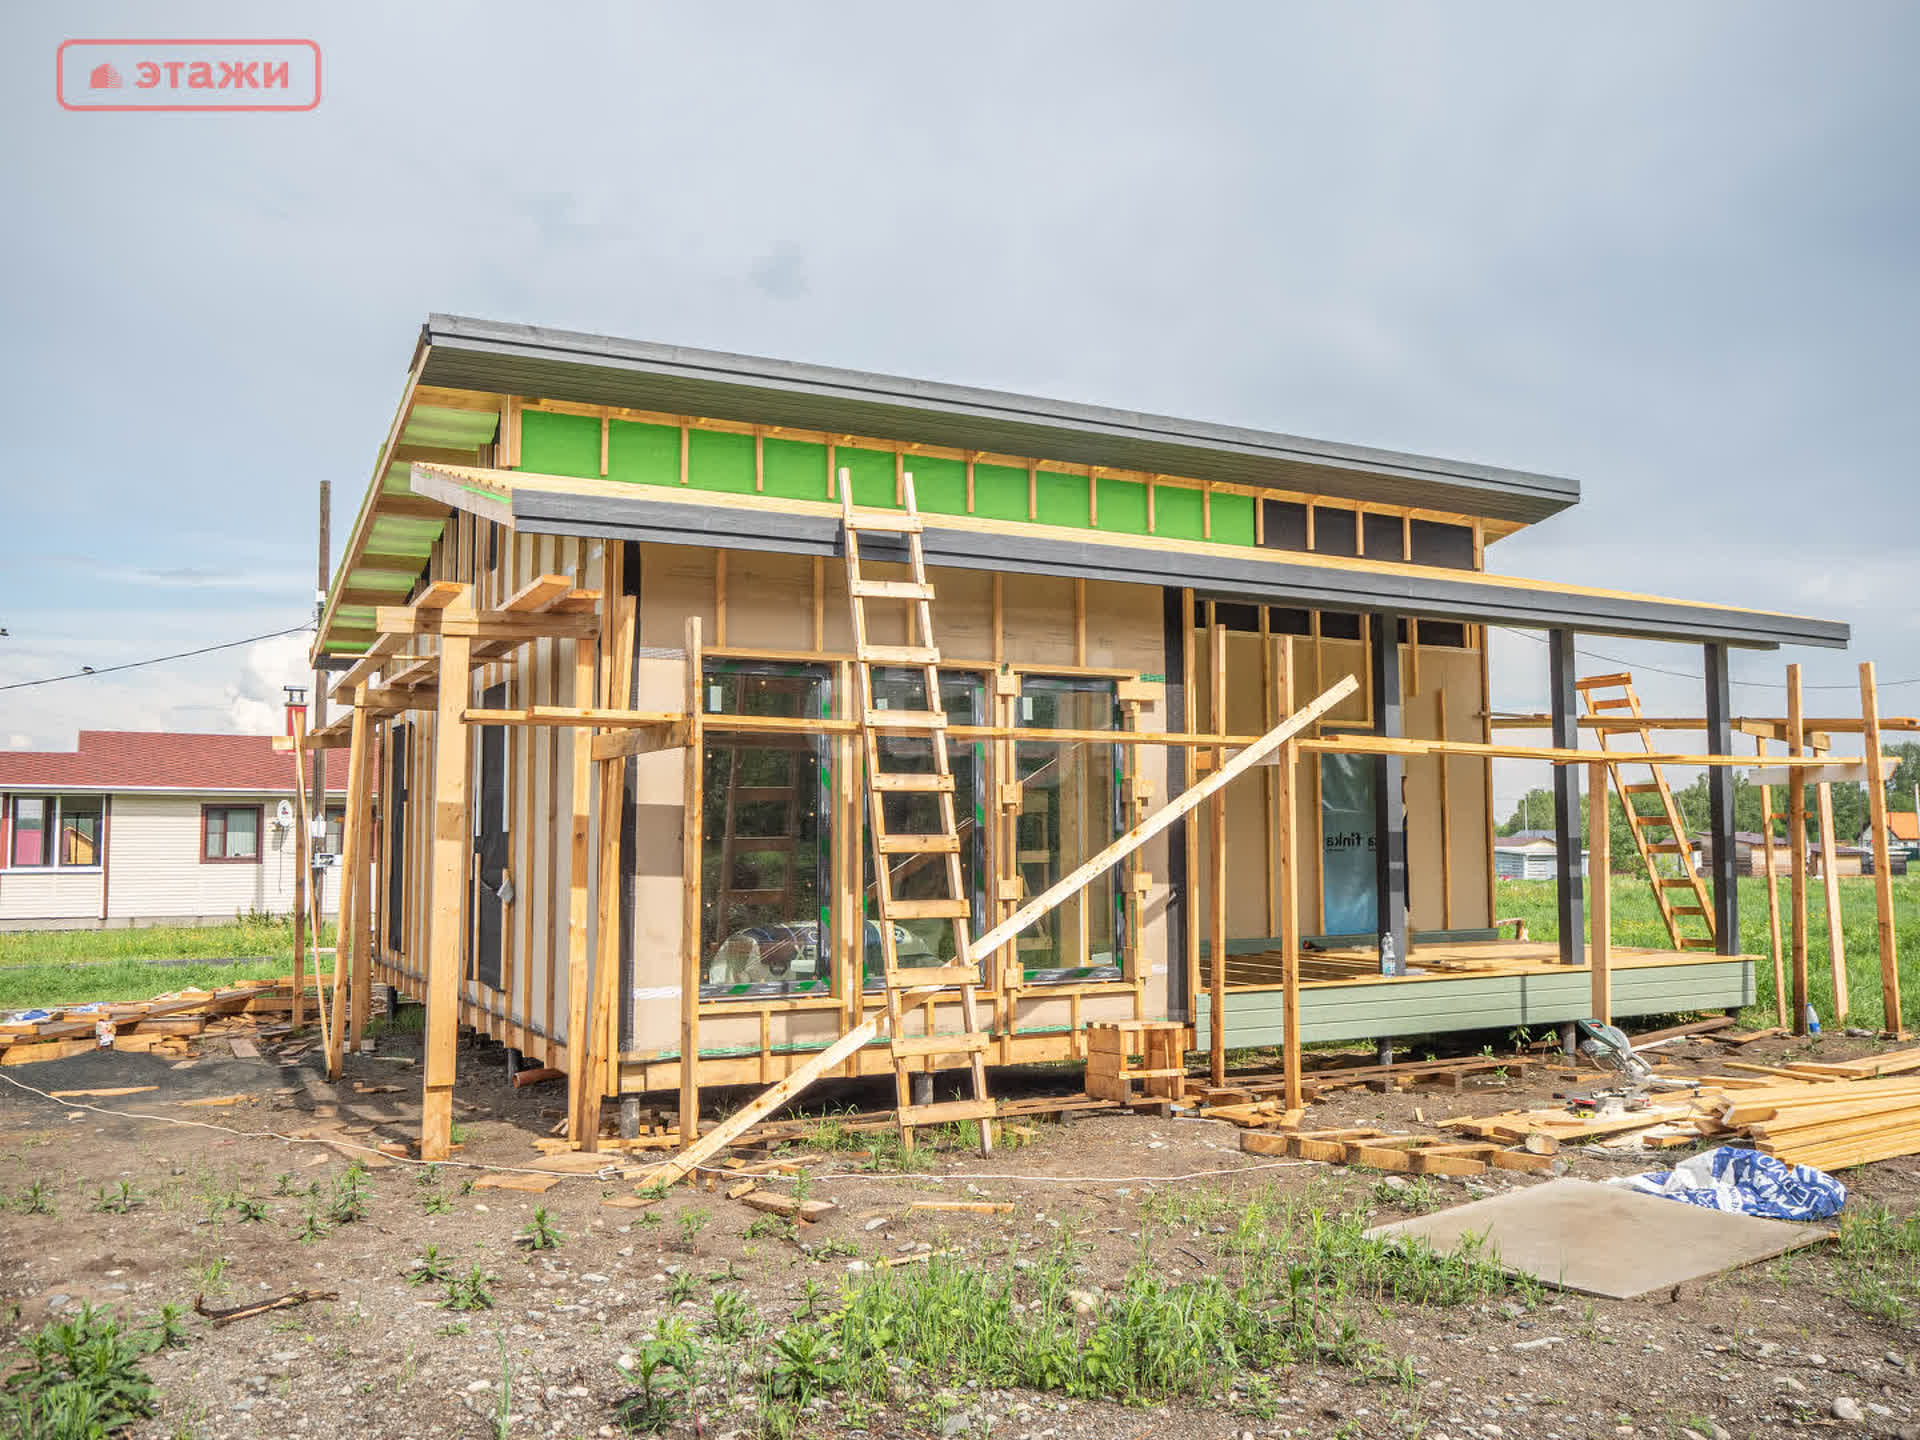
M914 503L914 476L900 476L899 511L854 509L852 476L839 472L841 524L847 545L847 605L852 616L854 695L860 722L862 753L866 755L868 829L874 839L874 908L879 922L879 948L885 966L887 1044L893 1054L895 1106L900 1139L914 1140L916 1125L945 1125L954 1121L979 1123L981 1154L993 1150L995 1102L987 1096L987 1046L991 1037L979 1029L975 987L979 972L973 962L970 929L972 902L960 874L960 826L954 816L954 776L947 760L947 712L941 708L941 653L933 643L933 586L927 582L925 549L920 541L920 509ZM860 536L889 534L906 540L910 580L868 580L860 572ZM868 639L868 601L904 601L908 622L906 645L876 645ZM925 682L925 710L893 710L874 707L874 668L920 670ZM931 770L883 770L881 735L912 735L927 741ZM889 795L931 795L937 810L937 829L895 831L887 824ZM947 895L935 899L895 899L891 862L897 856L941 856L945 862ZM952 925L952 958L941 966L900 966L895 922L941 920ZM852 918L858 924L858 916ZM864 950L864 943L860 947ZM941 996L960 998L960 1033L933 1031L933 1002ZM906 1035L906 1012L925 1006L920 1035ZM966 1056L973 1077L970 1100L914 1104L914 1062L931 1066L939 1056Z

